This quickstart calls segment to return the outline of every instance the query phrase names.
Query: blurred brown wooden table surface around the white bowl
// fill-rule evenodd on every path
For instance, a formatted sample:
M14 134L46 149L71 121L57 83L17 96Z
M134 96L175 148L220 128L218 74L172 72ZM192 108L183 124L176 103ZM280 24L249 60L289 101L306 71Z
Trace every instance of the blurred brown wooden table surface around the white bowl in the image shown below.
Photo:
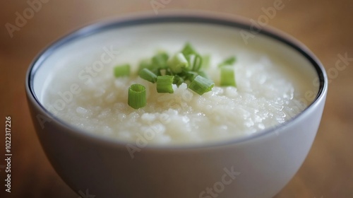
M25 99L25 73L43 47L66 33L102 18L136 11L153 13L153 9L150 0L41 1L41 7L32 16L27 9L25 14L29 19L20 24L23 27L11 31L5 24L16 25L16 14L23 16L23 11L30 6L27 1L1 1L0 120L4 124L5 117L11 116L13 157L11 193L8 193L4 187L3 134L0 136L0 197L77 198L44 156ZM275 1L280 0L171 0L158 12L174 9L217 11L257 21L264 14L263 8L273 6ZM282 3L285 7L277 10L268 25L304 42L330 71L330 84L321 126L309 156L276 198L353 197L353 61L349 59L346 68L335 68L339 54L353 58L353 3L349 0L282 0Z

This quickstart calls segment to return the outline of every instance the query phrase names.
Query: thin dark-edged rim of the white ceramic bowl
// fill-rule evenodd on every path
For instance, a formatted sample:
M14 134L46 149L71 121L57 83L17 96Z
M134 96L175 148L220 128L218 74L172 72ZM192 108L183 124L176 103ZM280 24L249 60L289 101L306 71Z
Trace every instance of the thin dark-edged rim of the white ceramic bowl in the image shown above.
M151 15L150 13L133 13L131 15L119 16L119 18L109 18L102 21L97 21L91 25L84 26L78 30L68 33L66 36L61 37L59 40L52 42L52 44L42 50L37 57L32 60L30 64L26 78L25 78L25 91L28 96L28 100L32 102L32 105L35 105L37 110L39 110L43 115L49 117L56 124L59 124L61 127L66 129L65 131L70 133L73 136L78 136L80 139L85 139L87 141L92 141L99 144L109 144L112 146L126 146L128 144L134 144L128 141L121 141L119 139L109 139L107 136L101 136L99 134L92 134L85 132L85 130L78 127L71 126L60 120L58 117L49 112L43 105L40 103L40 100L35 95L33 88L33 79L36 74L36 71L42 65L47 57L49 57L56 49L65 45L68 42L71 42L76 39L87 37L89 35L94 35L95 33L100 33L104 30L110 30L114 28L126 28L134 25L146 25L146 24L155 24L155 23L203 23L211 25L222 25L234 29L242 29L246 31L251 31L251 23L249 18L244 18L241 16L234 16L225 13L213 13L205 11L178 11L178 12L169 12L167 14ZM172 150L181 150L181 149L191 149L191 148L213 148L217 146L229 146L232 144L241 144L246 141L251 141L254 139L259 139L260 137L266 136L268 134L273 134L278 129L287 127L288 124L292 124L296 120L299 120L299 117L303 117L304 114L307 114L314 106L318 105L321 100L325 99L325 95L328 90L328 77L325 72L325 69L318 58L301 42L299 42L294 37L288 35L287 33L282 32L276 28L270 27L270 25L264 25L261 27L261 30L258 31L259 35L265 35L266 37L273 38L282 44L291 47L293 50L299 52L305 59L307 59L311 66L316 70L318 75L318 93L316 98L311 104L308 105L304 110L299 112L299 114L290 118L282 124L277 124L274 127L269 127L261 130L261 132L256 132L254 134L242 136L240 138L225 139L215 142L205 142L202 144L172 144L172 145L158 145L158 144L147 144L143 149L172 149ZM35 122L34 118L33 122Z

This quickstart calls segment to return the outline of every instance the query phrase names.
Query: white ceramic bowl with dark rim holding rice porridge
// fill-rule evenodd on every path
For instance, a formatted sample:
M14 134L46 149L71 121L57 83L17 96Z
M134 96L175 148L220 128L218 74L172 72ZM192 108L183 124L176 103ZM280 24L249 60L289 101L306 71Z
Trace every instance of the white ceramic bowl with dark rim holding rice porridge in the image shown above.
M43 107L43 89L52 67L75 49L84 54L86 49L79 44L89 49L90 40L109 31L117 34L118 45L141 38L148 41L153 31L162 31L166 37L161 39L166 39L173 32L170 24L185 25L180 36L187 37L187 27L192 25L201 37L222 40L229 35L297 62L298 69L309 76L306 83L315 83L314 90L308 91L316 94L313 103L288 122L251 136L196 146L147 145L133 159L126 143L71 127ZM151 25L157 26L148 28ZM311 148L328 80L321 63L300 42L273 28L255 30L247 20L225 16L138 16L90 25L55 42L31 64L26 91L37 136L56 172L75 192L96 197L273 197Z

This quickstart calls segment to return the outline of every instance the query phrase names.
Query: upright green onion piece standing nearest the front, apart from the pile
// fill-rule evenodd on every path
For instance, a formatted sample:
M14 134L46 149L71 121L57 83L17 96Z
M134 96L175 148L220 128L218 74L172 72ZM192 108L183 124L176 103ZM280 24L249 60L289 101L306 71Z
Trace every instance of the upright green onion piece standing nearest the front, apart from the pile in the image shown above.
M145 86L133 84L128 88L128 105L136 110L147 105Z

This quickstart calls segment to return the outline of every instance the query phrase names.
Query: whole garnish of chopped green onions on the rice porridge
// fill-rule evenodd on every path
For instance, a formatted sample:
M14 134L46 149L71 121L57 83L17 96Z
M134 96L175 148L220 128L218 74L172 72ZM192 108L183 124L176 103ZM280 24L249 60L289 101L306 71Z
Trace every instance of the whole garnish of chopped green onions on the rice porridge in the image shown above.
M219 65L222 86L235 86L234 70L229 69L229 65L234 64L235 61L235 57L229 57ZM158 93L174 93L173 84L180 86L181 83L186 83L191 90L203 95L215 86L205 71L201 70L201 67L208 68L209 66L210 56L201 57L201 54L198 54L193 46L186 42L181 52L170 59L166 52L159 52L151 59L141 61L138 75L146 81L156 83ZM128 75L130 75L128 64L114 67L114 76ZM128 88L128 105L138 109L146 104L146 88L140 84L131 85Z

